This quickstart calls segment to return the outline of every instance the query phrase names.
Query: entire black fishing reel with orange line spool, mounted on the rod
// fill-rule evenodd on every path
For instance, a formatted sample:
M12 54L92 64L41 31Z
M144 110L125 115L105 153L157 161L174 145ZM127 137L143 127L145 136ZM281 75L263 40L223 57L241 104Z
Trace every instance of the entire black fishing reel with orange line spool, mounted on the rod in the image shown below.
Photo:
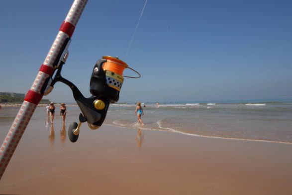
M56 82L62 82L68 85L76 100L81 114L79 115L79 123L72 123L68 130L69 139L76 142L82 123L87 122L91 130L97 130L103 123L110 103L119 100L119 93L124 81L124 77L139 78L141 75L134 69L130 68L126 63L117 57L103 56L94 65L90 80L91 97L85 98L80 90L69 80L61 76L61 70L64 63L57 66L58 71L52 79L51 84L44 92L45 95L50 93ZM139 76L123 76L123 70L130 68Z

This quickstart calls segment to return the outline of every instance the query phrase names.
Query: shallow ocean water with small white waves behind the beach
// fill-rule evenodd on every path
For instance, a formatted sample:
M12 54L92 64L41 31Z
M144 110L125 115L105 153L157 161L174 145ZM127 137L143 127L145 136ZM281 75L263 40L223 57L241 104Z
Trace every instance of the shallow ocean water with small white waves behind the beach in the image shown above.
M226 139L269 141L292 144L292 100L242 100L208 102L146 103L144 126L134 115L136 105L111 104L104 124L142 130L183 133ZM0 134L4 137L19 108L0 109ZM67 123L78 121L77 105L67 106ZM58 108L57 108L58 110ZM57 112L58 113L58 112ZM33 120L44 120L43 107L37 107ZM69 125L67 125L69 127ZM102 128L102 127L101 127Z

